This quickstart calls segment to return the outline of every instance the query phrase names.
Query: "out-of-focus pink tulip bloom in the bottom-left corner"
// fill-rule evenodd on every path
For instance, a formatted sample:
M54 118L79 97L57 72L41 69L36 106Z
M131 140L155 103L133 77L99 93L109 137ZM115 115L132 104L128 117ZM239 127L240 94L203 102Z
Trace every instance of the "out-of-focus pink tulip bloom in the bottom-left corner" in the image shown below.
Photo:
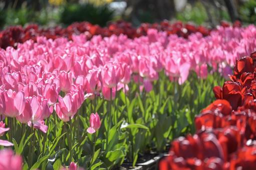
M0 150L0 170L22 170L22 156L15 155L12 149Z

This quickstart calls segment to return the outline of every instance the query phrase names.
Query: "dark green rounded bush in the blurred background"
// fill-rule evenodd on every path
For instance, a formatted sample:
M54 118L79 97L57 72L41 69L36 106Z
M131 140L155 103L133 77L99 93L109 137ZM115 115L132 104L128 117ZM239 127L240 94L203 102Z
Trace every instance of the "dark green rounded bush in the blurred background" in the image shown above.
M113 11L107 5L96 6L92 3L67 3L61 14L61 22L71 24L75 21L89 21L105 26L113 18Z

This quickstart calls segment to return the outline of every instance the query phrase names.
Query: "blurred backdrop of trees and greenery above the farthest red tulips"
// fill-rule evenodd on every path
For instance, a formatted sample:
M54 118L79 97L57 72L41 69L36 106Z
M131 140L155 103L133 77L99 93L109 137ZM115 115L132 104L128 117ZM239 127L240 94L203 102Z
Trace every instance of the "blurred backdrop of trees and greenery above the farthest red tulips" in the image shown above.
M256 22L256 0L0 0L0 28L84 20L104 26L116 19L134 25L163 19L209 26L240 19L248 24Z

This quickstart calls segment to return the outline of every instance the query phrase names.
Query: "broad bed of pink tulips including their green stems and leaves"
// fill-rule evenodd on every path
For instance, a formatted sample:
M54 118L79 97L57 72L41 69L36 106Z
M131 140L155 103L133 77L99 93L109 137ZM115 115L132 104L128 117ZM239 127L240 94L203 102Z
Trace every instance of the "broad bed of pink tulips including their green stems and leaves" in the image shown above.
M255 35L254 25L187 39L148 29L135 39L37 37L1 49L0 144L14 145L25 169L135 164L139 152L193 131L192 113L212 101L217 75L255 49Z

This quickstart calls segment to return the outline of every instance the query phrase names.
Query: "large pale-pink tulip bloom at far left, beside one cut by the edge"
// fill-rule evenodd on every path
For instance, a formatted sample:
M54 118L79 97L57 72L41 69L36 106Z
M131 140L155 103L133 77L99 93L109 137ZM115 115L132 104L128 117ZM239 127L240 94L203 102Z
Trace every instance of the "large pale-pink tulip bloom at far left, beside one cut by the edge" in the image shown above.
M5 115L8 117L15 117L20 115L25 108L24 92L19 91L17 94L15 91L9 89L5 93L6 107Z

